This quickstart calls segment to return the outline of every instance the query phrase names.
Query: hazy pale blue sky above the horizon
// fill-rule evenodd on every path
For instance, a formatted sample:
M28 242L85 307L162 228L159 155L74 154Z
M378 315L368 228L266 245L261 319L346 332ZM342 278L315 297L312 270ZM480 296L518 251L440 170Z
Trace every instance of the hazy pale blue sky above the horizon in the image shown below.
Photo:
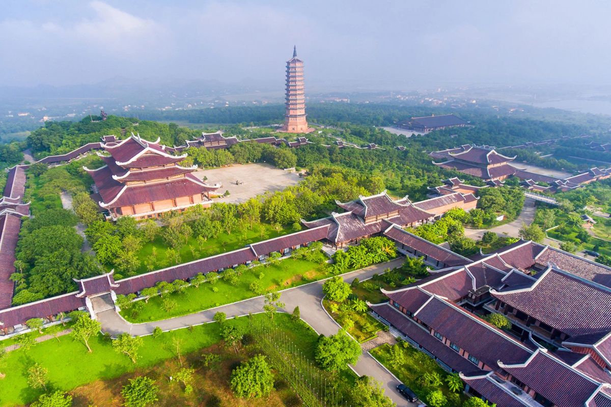
M610 18L609 1L4 0L0 85L282 82L293 44L310 86L611 84Z

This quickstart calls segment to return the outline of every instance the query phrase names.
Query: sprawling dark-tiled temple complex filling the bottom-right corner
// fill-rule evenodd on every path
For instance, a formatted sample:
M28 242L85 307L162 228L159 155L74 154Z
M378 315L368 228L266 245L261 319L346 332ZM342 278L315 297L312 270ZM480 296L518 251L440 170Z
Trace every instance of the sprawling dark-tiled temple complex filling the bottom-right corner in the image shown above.
M382 290L389 301L372 311L466 392L497 406L611 406L610 267L524 240L469 259L396 225L384 236L437 270Z

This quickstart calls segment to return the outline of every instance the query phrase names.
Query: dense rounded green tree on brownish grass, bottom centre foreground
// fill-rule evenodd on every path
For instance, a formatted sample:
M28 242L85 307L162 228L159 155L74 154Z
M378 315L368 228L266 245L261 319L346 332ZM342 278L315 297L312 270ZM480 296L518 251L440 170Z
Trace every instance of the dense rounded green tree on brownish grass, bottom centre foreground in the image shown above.
M233 369L231 388L241 398L258 398L268 395L274 388L274 375L266 357L254 356Z

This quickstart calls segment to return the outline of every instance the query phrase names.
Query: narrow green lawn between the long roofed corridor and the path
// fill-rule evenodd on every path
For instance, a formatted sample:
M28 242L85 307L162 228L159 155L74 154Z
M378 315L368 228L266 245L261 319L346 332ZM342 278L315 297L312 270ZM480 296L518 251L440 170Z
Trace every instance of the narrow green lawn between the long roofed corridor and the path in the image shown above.
M259 278L263 273L263 278ZM215 284L204 283L199 287L188 287L184 294L170 294L168 297L177 302L177 308L166 312L161 308L161 297L153 297L144 304L136 316L130 315L131 311L121 312L125 319L130 322L150 322L160 319L176 317L178 315L192 314L203 309L246 300L256 297L257 294L249 289L253 281L258 281L265 290L279 290L288 287L296 287L317 279L327 277L325 268L321 264L304 259L285 259L278 264L259 265L250 268L240 276L237 286L218 279ZM214 292L213 289L218 289Z

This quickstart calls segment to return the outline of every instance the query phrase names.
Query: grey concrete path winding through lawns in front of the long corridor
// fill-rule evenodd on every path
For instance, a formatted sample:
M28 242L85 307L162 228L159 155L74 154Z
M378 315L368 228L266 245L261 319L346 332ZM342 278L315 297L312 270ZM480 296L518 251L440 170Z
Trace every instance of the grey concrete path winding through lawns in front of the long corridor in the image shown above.
M386 268L399 267L401 264L403 264L403 258L398 258L390 262L376 264L371 267L346 273L342 277L344 281L348 283L351 283L355 277L358 277L359 280L362 281L371 278L371 276L376 273L383 273ZM339 326L321 306L321 300L323 299L323 282L324 280L316 281L314 283L283 290L280 301L283 301L286 305L281 311L292 312L296 306L299 306L301 318L312 326L317 333L329 336L337 333ZM211 322L216 312L225 312L227 317L233 317L235 315L247 315L250 312L261 312L262 310L263 297L256 297L238 303L227 304L206 311L197 312L196 314L184 315L182 317L156 322L128 323L114 310L100 312L97 314L97 317L102 324L102 330L104 332L111 333L112 335L128 332L134 336L141 336L152 333L156 326L166 331ZM399 382L393 375L387 372L386 369L380 366L380 364L378 364L378 362L366 351L363 351L359 361L356 366L354 366L354 370L356 370L359 375L372 376L380 381L386 394L392 398L395 403L398 403L398 405L411 405L403 396L398 394L396 387Z

